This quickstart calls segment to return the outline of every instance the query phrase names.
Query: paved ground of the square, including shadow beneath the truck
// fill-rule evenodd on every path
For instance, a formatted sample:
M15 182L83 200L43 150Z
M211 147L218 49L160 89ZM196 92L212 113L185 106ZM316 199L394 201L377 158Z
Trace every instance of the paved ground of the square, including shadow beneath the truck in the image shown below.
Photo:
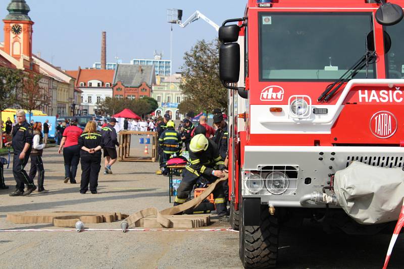
M133 141L132 141L133 142ZM143 154L144 146L133 143ZM64 184L63 157L56 148L44 153L48 193L10 197L0 190L0 229L54 229L49 224L12 224L6 215L23 211L111 211L134 213L147 207L170 207L168 178L156 163L117 162L113 175L99 175L98 194L80 194ZM29 169L29 165L27 167ZM77 181L80 180L80 167ZM86 225L119 228L119 222ZM228 228L215 222L214 228ZM282 230L279 268L381 268L391 235L327 235L314 225ZM401 235L400 235L401 237ZM390 268L400 268L404 242L399 239ZM242 268L238 234L232 232L8 232L0 233L1 268Z

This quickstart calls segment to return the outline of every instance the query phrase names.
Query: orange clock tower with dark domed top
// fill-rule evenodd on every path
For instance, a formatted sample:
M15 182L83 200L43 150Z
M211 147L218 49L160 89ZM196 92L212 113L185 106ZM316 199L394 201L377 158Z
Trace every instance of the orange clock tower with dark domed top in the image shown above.
M4 51L16 59L31 59L32 25L29 6L25 0L12 0L4 22Z

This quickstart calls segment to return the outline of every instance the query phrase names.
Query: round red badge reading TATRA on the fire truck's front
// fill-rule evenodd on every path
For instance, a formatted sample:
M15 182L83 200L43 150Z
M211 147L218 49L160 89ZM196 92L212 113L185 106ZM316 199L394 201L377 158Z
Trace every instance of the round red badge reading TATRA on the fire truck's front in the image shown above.
M370 130L377 138L390 138L397 131L397 119L391 112L379 111L370 119Z

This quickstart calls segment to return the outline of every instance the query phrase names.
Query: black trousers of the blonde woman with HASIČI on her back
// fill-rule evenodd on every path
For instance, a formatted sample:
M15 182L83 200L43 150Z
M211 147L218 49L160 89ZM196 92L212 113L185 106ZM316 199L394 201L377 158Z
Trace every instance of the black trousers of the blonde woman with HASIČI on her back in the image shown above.
M90 190L96 191L98 186L98 174L101 169L101 157L81 157L81 183L80 192L85 193L90 184Z

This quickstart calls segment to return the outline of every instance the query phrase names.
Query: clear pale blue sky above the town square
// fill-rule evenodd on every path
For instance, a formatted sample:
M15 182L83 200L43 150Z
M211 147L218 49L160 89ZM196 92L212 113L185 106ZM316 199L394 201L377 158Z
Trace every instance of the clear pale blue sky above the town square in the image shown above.
M91 67L100 61L101 32L107 31L107 60L123 62L133 58L153 58L154 50L170 58L170 24L167 9L183 9L183 20L199 10L221 25L243 15L246 0L26 0L35 22L33 52L63 69ZM10 0L0 0L4 19ZM212 40L216 30L199 20L186 28L174 26L173 72L179 71L184 52L200 39ZM3 29L1 27L0 29ZM0 31L0 40L4 33Z

